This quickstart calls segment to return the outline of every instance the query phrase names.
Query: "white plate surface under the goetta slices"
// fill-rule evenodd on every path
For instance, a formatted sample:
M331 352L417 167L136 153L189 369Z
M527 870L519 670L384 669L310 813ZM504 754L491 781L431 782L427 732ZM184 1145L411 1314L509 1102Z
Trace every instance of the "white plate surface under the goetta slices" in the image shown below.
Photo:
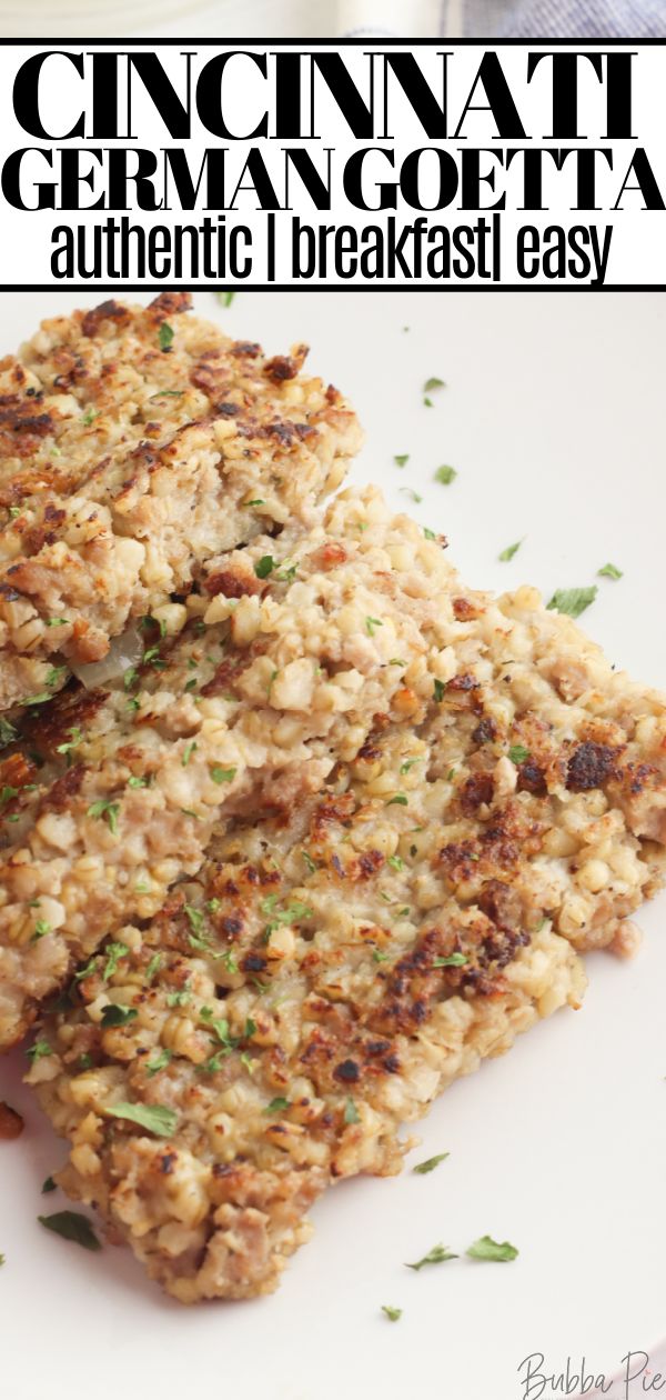
M312 343L312 368L353 396L368 430L353 479L382 483L396 507L444 529L470 584L529 580L550 595L593 582L609 560L623 568L620 582L597 580L583 622L613 661L666 686L665 298L308 293L239 294L228 311L211 294L197 304L273 353ZM3 349L71 305L57 293L6 295ZM427 409L431 375L448 388ZM444 462L459 472L448 487L432 482ZM411 507L404 486L423 504ZM255 1303L185 1310L126 1252L85 1254L48 1235L35 1217L66 1203L39 1189L63 1149L20 1086L22 1054L4 1061L0 1098L25 1112L27 1128L0 1144L3 1400L139 1400L158 1382L169 1396L211 1400L523 1400L516 1368L530 1352L543 1351L550 1372L567 1357L579 1369L585 1354L588 1371L611 1373L627 1350L653 1347L666 1330L665 913L658 899L639 916L646 937L632 963L589 960L582 1011L560 1012L432 1109L410 1161L451 1151L448 1162L330 1191L312 1243ZM518 1245L519 1259L403 1267L486 1232ZM382 1303L404 1309L400 1323Z

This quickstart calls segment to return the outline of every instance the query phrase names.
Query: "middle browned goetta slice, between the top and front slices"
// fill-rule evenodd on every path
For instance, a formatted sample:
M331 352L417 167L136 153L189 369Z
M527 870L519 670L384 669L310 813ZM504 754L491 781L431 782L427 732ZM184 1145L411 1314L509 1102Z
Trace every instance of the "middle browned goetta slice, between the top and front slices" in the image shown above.
M270 553L269 553L270 550ZM0 1046L106 934L148 918L224 813L298 805L375 717L474 659L441 546L372 489L227 556L115 685L27 711L0 764Z

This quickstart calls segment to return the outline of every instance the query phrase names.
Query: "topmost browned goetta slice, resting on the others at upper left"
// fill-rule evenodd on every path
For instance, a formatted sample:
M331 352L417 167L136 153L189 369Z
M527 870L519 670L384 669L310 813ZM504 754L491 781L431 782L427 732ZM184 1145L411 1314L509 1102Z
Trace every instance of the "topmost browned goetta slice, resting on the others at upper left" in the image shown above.
M49 685L56 652L99 662L225 550L312 524L360 445L305 346L267 358L189 304L106 301L1 361L0 710Z

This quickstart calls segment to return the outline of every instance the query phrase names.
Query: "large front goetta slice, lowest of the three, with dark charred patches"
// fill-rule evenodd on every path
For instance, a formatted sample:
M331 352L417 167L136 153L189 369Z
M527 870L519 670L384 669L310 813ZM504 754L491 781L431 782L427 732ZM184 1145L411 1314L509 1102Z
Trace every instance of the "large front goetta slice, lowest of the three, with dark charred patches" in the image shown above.
M660 882L662 697L534 591L451 582L424 704L215 829L32 1051L63 1187L183 1302L273 1288L326 1184L396 1170L399 1124L578 1005L578 949L630 951Z

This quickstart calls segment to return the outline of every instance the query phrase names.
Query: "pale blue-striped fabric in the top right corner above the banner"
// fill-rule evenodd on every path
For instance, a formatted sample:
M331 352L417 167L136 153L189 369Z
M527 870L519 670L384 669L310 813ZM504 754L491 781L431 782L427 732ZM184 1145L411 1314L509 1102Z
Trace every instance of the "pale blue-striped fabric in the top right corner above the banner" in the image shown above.
M663 0L529 0L518 4L501 38L631 38L666 36Z

